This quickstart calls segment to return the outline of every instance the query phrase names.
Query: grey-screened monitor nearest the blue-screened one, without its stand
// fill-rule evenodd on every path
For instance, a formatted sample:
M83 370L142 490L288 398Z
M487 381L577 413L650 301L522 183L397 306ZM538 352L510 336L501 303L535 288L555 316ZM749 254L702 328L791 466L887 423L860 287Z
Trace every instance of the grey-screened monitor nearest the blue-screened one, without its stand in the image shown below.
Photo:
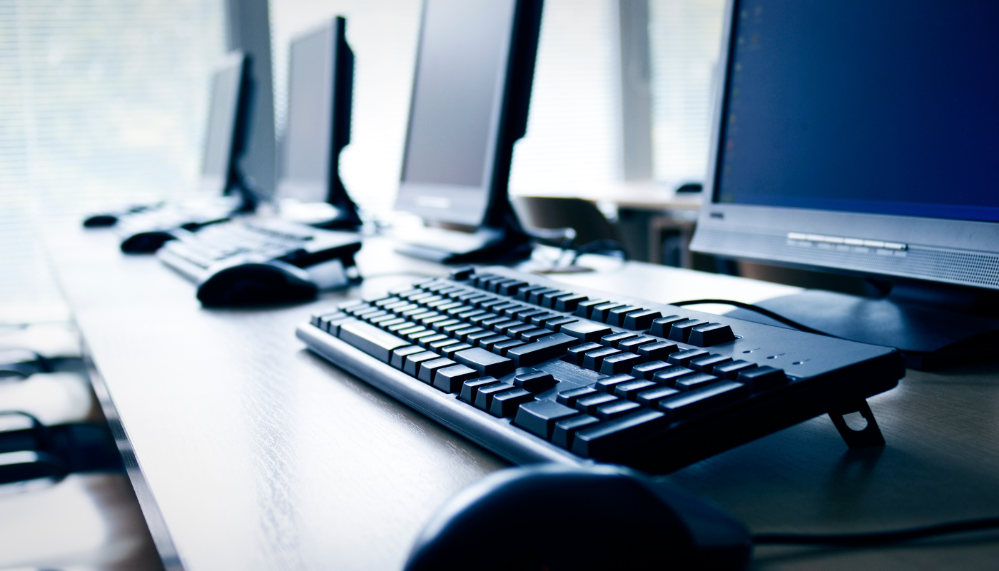
M424 4L398 209L478 227L506 200L539 19L533 1Z

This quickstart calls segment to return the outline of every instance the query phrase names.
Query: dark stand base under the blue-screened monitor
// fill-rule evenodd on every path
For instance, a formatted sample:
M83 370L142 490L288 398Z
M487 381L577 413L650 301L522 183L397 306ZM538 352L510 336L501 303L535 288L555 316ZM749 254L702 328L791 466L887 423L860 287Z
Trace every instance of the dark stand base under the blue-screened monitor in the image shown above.
M999 355L999 292L898 282L880 299L805 290L755 305L836 337L897 347L912 369ZM745 309L726 315L787 327Z

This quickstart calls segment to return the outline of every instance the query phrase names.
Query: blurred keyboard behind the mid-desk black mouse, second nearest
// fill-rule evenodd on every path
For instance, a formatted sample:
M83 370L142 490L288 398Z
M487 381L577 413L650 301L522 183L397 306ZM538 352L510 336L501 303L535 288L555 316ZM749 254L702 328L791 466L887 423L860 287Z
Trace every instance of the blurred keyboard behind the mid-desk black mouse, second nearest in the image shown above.
M360 237L352 232L257 217L175 234L177 239L164 244L157 255L194 282L237 264L274 261L310 268L336 260L350 276L356 274L354 254L361 249Z

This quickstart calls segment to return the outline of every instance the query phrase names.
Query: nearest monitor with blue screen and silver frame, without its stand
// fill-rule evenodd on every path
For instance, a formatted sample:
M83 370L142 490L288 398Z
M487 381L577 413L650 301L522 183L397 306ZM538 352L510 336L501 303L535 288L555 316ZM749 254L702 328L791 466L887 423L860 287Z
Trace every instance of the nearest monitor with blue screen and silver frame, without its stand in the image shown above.
M999 3L730 2L691 247L999 289Z

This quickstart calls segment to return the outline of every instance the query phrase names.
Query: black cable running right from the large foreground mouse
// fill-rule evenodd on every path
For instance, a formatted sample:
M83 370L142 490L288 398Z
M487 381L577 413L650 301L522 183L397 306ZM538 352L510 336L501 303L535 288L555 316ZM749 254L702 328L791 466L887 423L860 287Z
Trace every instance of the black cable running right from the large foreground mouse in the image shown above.
M926 527L913 527L893 531L843 534L804 534L804 533L761 533L752 536L758 545L835 545L873 546L901 543L916 539L926 539L951 533L982 531L999 528L999 517L954 521Z

